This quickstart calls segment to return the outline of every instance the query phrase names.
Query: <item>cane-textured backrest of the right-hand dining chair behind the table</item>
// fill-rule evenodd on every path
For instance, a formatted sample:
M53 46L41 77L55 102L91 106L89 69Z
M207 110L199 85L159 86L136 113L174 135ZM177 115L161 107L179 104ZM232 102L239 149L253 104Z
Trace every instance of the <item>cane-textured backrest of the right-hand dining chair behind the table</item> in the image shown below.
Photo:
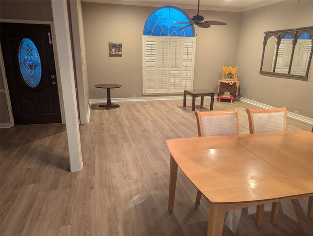
M250 134L287 131L287 110L274 109L246 109L249 119Z

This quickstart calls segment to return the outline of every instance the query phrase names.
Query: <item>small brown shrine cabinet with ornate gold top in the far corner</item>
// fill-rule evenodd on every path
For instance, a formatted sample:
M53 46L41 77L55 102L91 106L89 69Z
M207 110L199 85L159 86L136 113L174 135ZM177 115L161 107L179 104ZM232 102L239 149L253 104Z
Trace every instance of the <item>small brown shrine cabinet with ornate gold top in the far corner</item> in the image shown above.
M237 69L238 67L223 67L222 78L218 82L218 96L223 96L225 92L230 92L230 96L234 98L238 95L239 80L236 75ZM224 78L225 75L226 78Z

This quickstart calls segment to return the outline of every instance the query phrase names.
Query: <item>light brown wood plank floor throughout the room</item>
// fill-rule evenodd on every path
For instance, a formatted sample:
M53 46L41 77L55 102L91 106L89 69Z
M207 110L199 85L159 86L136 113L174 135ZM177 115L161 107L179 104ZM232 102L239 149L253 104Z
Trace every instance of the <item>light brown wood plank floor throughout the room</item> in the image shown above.
M204 107L207 111L209 99ZM197 101L198 102L198 101ZM70 173L65 125L1 129L1 236L204 236L208 203L179 170L173 212L168 212L169 160L165 141L198 136L197 122L182 100L120 102L117 109L91 106L80 126L84 168ZM215 102L214 110L239 111L239 132L248 133L242 101ZM288 118L289 130L312 125ZM230 193L231 194L231 193ZM225 236L313 235L308 199L281 202L276 225L265 206L226 213Z

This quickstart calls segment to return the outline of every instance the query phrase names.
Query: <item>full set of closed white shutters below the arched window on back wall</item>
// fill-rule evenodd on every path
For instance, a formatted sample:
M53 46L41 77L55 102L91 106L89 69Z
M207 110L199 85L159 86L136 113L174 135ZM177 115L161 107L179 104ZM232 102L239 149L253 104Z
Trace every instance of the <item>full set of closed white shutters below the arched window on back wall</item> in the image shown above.
M192 89L195 38L143 36L143 94Z

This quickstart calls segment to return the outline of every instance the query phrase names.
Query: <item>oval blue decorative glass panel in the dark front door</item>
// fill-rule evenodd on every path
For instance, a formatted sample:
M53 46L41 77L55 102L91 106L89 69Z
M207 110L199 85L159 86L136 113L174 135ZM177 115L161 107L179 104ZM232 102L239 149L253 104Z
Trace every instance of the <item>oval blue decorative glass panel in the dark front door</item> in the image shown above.
M25 83L36 88L41 80L41 60L37 47L28 38L24 38L20 44L19 64Z

